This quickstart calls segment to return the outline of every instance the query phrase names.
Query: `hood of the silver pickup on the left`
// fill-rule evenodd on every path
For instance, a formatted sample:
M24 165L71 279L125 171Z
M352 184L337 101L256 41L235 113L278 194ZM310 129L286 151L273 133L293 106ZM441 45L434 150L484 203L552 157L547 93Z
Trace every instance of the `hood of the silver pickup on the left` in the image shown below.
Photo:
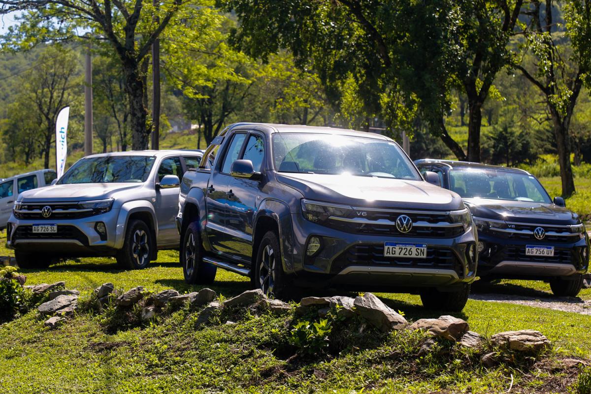
M27 203L55 201L88 201L115 198L118 193L128 194L144 186L143 183L78 183L53 185L20 194L18 200Z

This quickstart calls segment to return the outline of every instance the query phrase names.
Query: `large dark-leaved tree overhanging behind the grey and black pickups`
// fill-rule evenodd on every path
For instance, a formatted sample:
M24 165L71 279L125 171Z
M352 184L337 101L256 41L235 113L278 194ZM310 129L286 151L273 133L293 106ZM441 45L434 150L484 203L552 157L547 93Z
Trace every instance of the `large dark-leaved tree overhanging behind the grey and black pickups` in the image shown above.
M480 158L482 105L508 61L522 0L415 2L226 0L241 26L235 43L267 58L289 48L300 67L311 64L329 97L342 98L351 78L363 110L391 128L410 128L418 112L457 158L466 154L446 130L454 88L468 101L467 158Z

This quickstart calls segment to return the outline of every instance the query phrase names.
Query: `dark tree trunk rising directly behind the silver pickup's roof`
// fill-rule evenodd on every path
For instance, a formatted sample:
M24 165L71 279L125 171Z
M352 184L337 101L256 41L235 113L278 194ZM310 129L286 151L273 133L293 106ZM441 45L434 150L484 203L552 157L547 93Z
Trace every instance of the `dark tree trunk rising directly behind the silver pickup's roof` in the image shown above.
M138 151L148 148L147 128L148 109L144 105L144 79L141 76L139 65L135 61L128 60L124 65L125 92L129 99L129 123L131 128L131 148ZM123 150L125 142L121 142Z

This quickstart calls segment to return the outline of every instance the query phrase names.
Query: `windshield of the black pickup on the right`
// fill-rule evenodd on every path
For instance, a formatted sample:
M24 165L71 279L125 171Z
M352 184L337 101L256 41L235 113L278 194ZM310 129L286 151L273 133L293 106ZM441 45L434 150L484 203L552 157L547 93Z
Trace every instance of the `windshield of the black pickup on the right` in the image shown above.
M449 184L463 198L552 202L540 182L525 173L472 168L451 170Z

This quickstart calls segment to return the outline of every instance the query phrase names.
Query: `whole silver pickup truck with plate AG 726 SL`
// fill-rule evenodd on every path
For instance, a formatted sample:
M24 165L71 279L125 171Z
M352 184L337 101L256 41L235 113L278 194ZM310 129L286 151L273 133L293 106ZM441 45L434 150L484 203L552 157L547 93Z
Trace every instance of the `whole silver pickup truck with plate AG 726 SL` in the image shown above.
M25 191L7 224L7 246L21 268L58 258L116 256L145 268L158 249L178 248L179 179L202 151L90 155L49 187Z

